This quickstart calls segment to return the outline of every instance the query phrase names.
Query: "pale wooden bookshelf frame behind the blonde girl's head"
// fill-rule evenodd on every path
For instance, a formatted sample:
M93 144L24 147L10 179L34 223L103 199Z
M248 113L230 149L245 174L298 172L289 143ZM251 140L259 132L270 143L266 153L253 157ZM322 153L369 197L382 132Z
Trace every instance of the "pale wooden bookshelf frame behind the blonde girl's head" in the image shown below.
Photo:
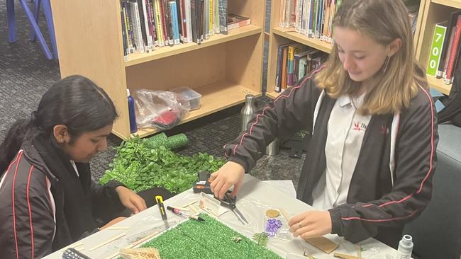
M280 3L283 0L272 0L271 4L271 21L270 21L270 43L269 43L269 61L268 61L268 67L267 67L267 92L266 96L269 96L270 98L277 98L279 96L279 93L274 91L275 87L275 78L277 74L277 47L279 45L289 43L289 42L299 42L303 45L312 47L317 50L321 50L323 52L330 53L333 45L329 42L325 42L323 40L318 40L318 39L313 39L313 38L308 38L306 35L302 35L300 33L296 33L294 28L280 28L279 27L279 8L280 8ZM423 15L427 16L426 13L426 8L427 4L426 1L430 0L421 0L419 10L418 10L418 23L416 25L416 30L413 36L413 40L415 42L416 50L421 49L421 30L422 28L426 27L424 25L424 17ZM439 1L439 2L455 2L461 6L461 0L433 0L433 1ZM431 34L432 37L432 34ZM431 38L432 40L432 38ZM430 40L430 42L432 42ZM428 46L430 48L431 45ZM417 57L420 57L418 55L418 52L416 51ZM439 82L434 82L436 84L432 84L431 86L440 86ZM441 82L443 84L443 82Z

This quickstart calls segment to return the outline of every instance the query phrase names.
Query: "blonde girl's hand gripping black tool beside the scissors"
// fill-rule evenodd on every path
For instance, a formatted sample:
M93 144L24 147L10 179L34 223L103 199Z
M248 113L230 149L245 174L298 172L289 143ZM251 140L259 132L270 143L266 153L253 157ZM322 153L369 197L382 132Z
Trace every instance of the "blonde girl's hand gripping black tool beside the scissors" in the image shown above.
M235 197L243 183L243 175L245 175L245 168L239 163L228 161L218 171L211 173L211 191L215 197L223 200L224 195L230 187L234 186L233 191L230 193L231 197Z

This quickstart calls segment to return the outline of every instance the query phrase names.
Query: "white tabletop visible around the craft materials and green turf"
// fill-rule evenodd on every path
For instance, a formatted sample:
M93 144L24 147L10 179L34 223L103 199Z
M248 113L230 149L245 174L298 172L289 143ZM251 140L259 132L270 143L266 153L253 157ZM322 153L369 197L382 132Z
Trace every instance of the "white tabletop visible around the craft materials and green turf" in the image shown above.
M199 194L194 194L192 190L187 190L170 198L169 200L166 200L165 207L167 205L182 206L189 202L199 200L199 196ZM152 199L153 198L154 197L152 197ZM198 204L196 203L195 206L198 207ZM250 221L249 225L244 226L242 223L240 223L240 221L238 221L232 212L226 212L222 214L221 217L219 217L219 220L231 228L238 230L241 234L248 236L248 238L251 238L255 232L264 231L266 209L282 208L288 212L290 217L306 210L313 209L306 203L290 197L284 192L273 188L267 183L263 183L260 180L257 180L251 175L245 175L243 186L238 195L237 207L244 214L246 219ZM168 212L168 220L184 221L186 219L184 219L184 217L179 217L172 214L171 212ZM284 219L282 219L282 222L283 224L286 223ZM109 243L106 246L97 248L94 251L89 251L89 249L93 248L99 243L103 243L104 241L109 240L109 238L112 238L113 236L117 236L123 233L127 233L127 235L133 234L133 231L143 229L144 224L152 225L154 223L155 225L162 223L157 205L150 207L149 209L146 209L139 214L129 217L128 219L125 219L118 224L113 225L126 226L130 227L130 229L104 229L103 231L99 231L79 241L84 244L83 246L80 246L80 248L84 247L82 253L88 255L91 258L107 258L109 255L113 255L113 253L117 251L115 246L117 245L118 241ZM340 245L340 247L336 249L335 252L345 253L348 255L357 255L357 245L345 241L344 238L341 238L337 235L328 234L326 237ZM270 238L269 243L267 243L267 248L270 248L272 251L281 255L282 258L285 258L287 253L302 255L304 251L318 259L334 258L334 252L327 255L326 253L323 253L317 248L309 245L301 238L293 238L291 235L287 235L287 238L288 239L285 240ZM391 248L384 243L375 240L374 238L368 238L367 240L360 242L360 247L362 250L365 249L365 251L362 251L363 259L393 259L396 253L394 248ZM62 252L57 251L45 258L62 258Z

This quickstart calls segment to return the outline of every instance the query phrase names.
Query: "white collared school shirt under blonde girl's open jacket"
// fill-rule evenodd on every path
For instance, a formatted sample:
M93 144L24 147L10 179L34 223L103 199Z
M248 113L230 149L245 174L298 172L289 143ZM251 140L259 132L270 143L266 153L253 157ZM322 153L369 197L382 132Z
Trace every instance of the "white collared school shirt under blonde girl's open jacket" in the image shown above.
M357 163L365 130L371 115L360 115L357 108L365 94L358 98L340 96L328 120L326 169L313 191L312 206L328 210L346 203L352 174Z

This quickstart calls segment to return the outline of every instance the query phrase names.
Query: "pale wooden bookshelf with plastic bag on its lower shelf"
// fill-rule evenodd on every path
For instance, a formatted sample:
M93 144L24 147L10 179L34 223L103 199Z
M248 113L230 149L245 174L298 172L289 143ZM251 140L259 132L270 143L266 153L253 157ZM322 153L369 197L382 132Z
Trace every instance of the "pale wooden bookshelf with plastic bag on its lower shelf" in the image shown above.
M113 133L130 136L126 89L164 90L189 86L201 93L201 108L181 123L245 101L262 91L265 1L228 1L228 13L250 17L251 24L213 35L201 45L157 47L123 57L120 1L52 0L61 77L87 76L111 96L120 115ZM146 137L155 128L140 129Z

